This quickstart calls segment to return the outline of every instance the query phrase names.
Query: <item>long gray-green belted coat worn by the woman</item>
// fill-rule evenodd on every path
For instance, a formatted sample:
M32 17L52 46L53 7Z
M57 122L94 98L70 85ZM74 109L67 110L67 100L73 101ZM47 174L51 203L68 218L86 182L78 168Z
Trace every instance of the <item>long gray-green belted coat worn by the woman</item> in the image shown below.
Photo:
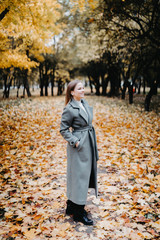
M81 100L87 114L72 99L64 108L60 133L67 144L67 197L76 204L85 205L88 188L95 188L97 196L98 150L92 126L93 108ZM79 142L76 147L77 141Z

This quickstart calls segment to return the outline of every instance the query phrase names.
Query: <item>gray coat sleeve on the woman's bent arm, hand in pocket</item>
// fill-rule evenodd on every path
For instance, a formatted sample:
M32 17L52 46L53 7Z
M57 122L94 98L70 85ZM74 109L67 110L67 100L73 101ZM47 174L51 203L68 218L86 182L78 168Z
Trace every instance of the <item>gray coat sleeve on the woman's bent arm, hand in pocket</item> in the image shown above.
M71 146L75 147L79 139L74 136L69 129L70 127L72 127L72 121L73 115L68 108L64 108L61 118L60 133Z

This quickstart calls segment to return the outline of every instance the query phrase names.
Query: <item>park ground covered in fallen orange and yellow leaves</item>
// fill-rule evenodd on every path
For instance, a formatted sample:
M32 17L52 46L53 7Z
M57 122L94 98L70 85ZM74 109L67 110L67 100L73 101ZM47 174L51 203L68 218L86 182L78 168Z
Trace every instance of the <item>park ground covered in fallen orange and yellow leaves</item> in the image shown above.
M64 97L2 101L0 239L141 240L160 237L160 118L116 99L89 97L100 160L94 226L65 216Z

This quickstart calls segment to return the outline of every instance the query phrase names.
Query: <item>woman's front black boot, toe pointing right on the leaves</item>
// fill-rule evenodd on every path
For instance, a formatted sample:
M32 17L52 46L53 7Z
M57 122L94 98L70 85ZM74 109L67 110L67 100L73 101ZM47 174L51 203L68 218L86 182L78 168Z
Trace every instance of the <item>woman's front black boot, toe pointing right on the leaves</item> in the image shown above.
M87 212L84 210L84 205L76 204L74 208L73 220L82 222L84 225L93 225L93 221L87 217Z

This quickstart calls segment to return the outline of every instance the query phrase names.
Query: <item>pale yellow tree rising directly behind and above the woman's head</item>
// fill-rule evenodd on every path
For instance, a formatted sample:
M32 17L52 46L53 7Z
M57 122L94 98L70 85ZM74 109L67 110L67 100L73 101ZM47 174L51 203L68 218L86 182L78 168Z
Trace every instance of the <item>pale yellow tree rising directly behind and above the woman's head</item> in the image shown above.
M103 61L100 59L105 51L100 43L104 34L96 29L94 19L98 1L62 1L63 18L67 27L59 43L61 44L61 59L65 67L73 73L82 72L88 76L89 82L95 85L96 94L100 94L100 76ZM98 17L98 16L97 16ZM93 67L94 65L94 67ZM96 67L95 67L96 66ZM79 69L79 71L77 71ZM92 69L94 71L92 71ZM98 74L98 75L97 75ZM92 79L92 80L91 80Z

